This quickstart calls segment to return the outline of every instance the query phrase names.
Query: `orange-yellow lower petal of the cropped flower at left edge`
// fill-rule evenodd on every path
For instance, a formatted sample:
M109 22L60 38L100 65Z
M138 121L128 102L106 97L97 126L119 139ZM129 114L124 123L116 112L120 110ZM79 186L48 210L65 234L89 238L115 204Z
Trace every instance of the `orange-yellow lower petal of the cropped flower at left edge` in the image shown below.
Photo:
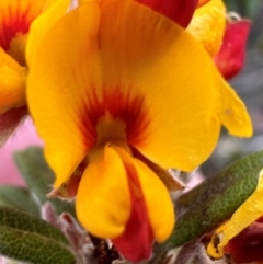
M25 104L26 69L0 47L0 114Z

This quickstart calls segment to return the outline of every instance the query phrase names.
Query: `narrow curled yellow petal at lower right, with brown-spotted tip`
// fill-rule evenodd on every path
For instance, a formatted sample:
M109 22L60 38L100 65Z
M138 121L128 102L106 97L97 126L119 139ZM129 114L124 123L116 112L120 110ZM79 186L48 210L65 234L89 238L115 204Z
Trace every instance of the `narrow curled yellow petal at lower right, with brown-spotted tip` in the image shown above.
M217 234L220 234L220 243L217 245L219 254L214 254L213 248L208 250L208 254L215 257L220 257L224 254L224 246L228 244L228 241L239 234L243 229L253 223L256 219L263 216L263 170L259 176L259 184L254 193L238 208L232 215L230 220L218 228Z

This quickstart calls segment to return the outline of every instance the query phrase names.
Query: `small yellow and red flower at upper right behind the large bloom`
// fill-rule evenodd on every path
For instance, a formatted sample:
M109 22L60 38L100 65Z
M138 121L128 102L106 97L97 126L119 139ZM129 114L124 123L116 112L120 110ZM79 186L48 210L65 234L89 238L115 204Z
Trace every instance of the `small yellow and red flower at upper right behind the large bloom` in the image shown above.
M250 21L232 19L222 0L210 0L194 12L187 31L204 46L224 78L230 79L243 67Z

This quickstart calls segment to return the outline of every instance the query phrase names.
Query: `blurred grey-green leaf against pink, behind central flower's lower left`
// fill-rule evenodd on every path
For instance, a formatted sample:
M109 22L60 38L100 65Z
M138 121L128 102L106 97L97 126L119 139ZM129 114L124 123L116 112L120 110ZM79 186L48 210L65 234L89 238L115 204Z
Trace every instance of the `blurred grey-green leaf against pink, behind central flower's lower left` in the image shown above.
M44 158L42 148L31 147L24 151L14 153L13 158L27 187L37 196L41 205L49 200L54 205L57 214L67 211L75 216L72 203L46 197L46 194L52 190L55 175Z

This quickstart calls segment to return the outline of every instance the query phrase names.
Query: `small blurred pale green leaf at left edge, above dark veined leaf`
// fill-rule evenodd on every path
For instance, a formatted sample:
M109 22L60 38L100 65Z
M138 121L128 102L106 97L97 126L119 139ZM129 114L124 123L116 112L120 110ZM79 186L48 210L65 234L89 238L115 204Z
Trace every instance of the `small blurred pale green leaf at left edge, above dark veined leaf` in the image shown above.
M0 205L24 210L33 216L39 216L39 205L32 193L23 187L0 185Z

